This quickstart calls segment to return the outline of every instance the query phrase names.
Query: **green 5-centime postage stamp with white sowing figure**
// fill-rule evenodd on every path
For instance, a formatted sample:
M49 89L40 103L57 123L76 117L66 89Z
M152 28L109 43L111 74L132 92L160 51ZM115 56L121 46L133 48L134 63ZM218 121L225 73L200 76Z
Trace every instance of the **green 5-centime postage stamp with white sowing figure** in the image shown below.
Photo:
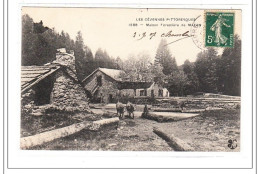
M234 46L234 18L230 12L206 12L206 47Z

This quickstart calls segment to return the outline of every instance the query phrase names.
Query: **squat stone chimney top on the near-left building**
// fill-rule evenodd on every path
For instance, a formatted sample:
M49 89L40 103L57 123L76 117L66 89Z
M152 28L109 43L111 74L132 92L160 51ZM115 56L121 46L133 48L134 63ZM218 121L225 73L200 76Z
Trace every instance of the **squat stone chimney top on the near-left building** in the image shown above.
M55 61L55 63L59 63L61 65L65 65L65 66L71 68L74 72L76 72L75 56L72 55L72 54L66 53L66 51L65 52L62 51L62 52L56 53L56 61Z

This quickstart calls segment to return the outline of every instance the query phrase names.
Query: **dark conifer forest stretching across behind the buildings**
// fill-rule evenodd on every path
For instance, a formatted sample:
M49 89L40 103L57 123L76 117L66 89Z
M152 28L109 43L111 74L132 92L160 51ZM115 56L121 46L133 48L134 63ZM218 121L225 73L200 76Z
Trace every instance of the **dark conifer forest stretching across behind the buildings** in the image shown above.
M68 33L35 23L28 15L22 16L22 65L44 65L56 58L56 49L74 50L76 73L83 80L96 68L121 69L126 81L155 81L163 84L171 96L186 96L198 92L241 95L241 39L234 38L233 48L224 48L221 55L213 48L201 51L195 62L186 60L177 66L174 53L161 40L156 55L141 52L127 58L112 57L99 48L95 54L84 43L79 31L75 40Z

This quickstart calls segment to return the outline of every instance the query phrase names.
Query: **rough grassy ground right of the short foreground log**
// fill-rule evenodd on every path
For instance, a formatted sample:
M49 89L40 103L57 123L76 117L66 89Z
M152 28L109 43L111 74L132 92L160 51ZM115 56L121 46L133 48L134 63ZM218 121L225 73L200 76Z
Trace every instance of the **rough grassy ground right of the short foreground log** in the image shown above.
M171 124L164 129L194 147L195 151L240 151L240 110L205 111L199 117ZM167 128L167 126L166 126ZM230 149L229 140L238 147Z

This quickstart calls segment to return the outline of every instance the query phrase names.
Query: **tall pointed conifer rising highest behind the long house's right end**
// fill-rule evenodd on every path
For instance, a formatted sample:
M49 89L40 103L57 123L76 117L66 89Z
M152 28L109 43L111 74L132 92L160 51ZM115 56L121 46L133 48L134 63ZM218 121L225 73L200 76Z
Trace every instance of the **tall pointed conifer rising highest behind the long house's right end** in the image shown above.
M178 71L178 66L174 57L172 57L170 50L167 47L167 41L162 39L157 49L154 64L161 64L163 73L169 75L174 71Z

